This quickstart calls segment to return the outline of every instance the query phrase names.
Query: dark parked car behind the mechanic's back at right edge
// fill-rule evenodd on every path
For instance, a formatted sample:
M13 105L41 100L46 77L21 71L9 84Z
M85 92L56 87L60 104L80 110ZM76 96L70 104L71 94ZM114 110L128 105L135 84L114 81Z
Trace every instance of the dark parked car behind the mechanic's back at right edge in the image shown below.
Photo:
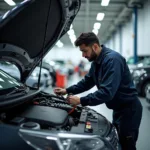
M150 86L149 58L145 58L136 65L136 68L132 71L132 77L138 93L145 96L147 89Z

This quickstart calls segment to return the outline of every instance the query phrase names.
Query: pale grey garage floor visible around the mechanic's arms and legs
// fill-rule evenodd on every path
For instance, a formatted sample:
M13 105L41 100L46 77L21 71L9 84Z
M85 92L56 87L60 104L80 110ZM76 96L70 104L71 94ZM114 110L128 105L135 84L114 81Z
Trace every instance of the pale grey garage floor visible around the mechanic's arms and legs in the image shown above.
M68 86L77 83L80 79L81 78L79 78L78 75L74 75L68 81ZM94 92L95 90L96 87L92 88L88 92L79 94L79 96L87 95L88 93ZM140 97L139 99L143 105L143 116L137 142L137 150L150 150L150 105L146 102L145 98ZM112 121L112 110L108 109L105 104L94 106L91 108L104 115L109 121Z

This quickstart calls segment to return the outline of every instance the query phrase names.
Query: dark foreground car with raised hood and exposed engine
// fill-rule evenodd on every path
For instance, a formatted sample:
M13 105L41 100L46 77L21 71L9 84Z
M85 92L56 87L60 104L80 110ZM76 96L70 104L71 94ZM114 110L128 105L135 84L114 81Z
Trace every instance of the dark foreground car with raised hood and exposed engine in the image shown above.
M119 149L116 129L104 116L25 84L67 33L80 5L80 0L26 0L2 17L0 60L15 64L20 80L0 70L1 150Z

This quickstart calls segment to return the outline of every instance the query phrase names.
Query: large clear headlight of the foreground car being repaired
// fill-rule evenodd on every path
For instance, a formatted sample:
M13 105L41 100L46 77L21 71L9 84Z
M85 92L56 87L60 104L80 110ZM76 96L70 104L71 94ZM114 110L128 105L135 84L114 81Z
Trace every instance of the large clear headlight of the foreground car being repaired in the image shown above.
M20 129L19 135L37 150L103 150L107 146L97 135Z

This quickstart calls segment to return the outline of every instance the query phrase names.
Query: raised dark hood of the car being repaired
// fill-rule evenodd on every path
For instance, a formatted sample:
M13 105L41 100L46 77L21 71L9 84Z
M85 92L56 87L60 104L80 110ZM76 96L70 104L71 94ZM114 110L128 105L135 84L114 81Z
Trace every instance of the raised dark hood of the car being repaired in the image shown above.
M26 0L0 18L0 60L14 63L25 82L70 28L80 0Z

